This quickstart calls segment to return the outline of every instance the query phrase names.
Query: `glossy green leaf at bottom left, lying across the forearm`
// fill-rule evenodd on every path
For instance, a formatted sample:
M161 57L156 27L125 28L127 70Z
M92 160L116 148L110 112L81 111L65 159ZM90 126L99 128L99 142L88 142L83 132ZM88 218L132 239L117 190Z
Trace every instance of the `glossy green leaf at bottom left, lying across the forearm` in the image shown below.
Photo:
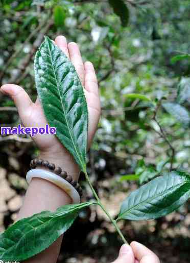
M17 221L0 235L0 258L21 261L40 253L73 224L81 209L92 204L66 205Z

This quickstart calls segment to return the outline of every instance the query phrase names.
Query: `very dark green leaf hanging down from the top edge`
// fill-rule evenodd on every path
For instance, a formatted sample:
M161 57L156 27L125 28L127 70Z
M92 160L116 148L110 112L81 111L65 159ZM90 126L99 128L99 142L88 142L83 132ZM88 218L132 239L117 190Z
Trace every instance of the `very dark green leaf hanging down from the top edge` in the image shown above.
M116 15L120 16L122 26L126 27L129 23L129 9L123 0L109 0L110 6Z

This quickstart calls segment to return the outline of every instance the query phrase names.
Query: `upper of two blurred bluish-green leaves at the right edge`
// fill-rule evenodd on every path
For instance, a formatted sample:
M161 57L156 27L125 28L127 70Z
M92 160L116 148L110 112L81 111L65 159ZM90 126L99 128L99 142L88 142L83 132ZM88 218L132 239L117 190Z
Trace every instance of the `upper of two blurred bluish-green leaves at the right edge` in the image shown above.
M182 77L178 84L176 102L179 104L182 104L185 101L190 102L190 78L189 77Z

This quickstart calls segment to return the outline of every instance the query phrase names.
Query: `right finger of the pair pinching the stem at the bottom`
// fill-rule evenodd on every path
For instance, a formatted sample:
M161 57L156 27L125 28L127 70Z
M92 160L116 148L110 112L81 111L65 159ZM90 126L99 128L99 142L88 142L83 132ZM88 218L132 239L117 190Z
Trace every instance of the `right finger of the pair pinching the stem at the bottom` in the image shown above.
M130 246L133 250L135 258L140 263L160 263L159 258L144 245L141 245L140 243L133 241L131 242Z

